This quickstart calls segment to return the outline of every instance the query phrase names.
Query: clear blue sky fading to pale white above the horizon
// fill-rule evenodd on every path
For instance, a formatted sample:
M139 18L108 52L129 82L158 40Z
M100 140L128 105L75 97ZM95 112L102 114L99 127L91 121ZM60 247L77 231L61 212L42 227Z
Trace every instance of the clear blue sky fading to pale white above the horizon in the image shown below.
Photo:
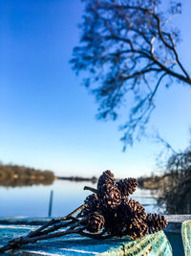
M117 122L97 122L96 102L69 59L78 43L79 0L0 0L0 160L56 175L149 174L161 147L142 139L122 152ZM180 58L191 71L191 2L183 1ZM160 89L150 128L176 149L189 142L191 88Z

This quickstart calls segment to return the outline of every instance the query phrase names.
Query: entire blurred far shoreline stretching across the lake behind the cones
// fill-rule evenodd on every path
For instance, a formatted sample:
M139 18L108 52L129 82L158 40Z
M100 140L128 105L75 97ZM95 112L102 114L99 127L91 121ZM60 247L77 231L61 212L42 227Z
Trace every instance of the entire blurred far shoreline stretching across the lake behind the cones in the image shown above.
M17 187L17 186L32 186L38 184L50 185L54 180L68 180L72 182L97 182L97 177L84 177L84 176L62 176L54 175L52 171L41 171L29 168L26 166L18 166L0 163L0 186ZM150 176L150 177L138 177L138 187L144 189L156 190L161 183L166 180L164 176ZM117 178L116 181L119 179Z

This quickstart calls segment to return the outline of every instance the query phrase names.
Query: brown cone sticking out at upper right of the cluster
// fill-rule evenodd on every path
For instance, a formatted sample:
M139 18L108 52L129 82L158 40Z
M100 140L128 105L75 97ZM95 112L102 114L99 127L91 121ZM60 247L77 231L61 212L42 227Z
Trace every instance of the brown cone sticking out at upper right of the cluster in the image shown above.
M138 180L132 177L120 179L117 182L117 188L119 189L122 197L129 197L130 194L133 194L136 191L137 186Z

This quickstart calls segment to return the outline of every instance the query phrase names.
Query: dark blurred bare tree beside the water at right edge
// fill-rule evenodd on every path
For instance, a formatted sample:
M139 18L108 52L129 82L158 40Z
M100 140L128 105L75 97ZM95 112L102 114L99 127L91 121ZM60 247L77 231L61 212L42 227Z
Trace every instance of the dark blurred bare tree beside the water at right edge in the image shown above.
M165 177L165 179L164 179ZM166 181L165 181L166 180ZM159 206L165 205L168 214L191 213L191 148L173 153L163 175L159 191Z

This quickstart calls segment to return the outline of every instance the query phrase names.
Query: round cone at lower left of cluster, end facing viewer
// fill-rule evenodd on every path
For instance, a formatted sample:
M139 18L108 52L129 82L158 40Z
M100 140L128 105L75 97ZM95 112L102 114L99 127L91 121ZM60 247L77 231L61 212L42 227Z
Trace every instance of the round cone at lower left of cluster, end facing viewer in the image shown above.
M85 223L85 222L84 222ZM103 228L105 219L98 212L94 212L88 215L86 219L86 229L89 232L96 233Z

